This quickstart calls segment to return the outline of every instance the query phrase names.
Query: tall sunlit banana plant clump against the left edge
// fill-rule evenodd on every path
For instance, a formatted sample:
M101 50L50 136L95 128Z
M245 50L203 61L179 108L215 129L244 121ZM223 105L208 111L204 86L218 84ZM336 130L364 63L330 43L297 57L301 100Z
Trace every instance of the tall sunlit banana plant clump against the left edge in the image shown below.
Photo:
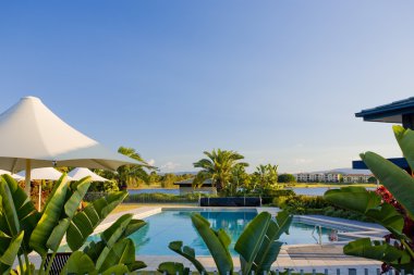
M28 253L41 258L38 274L48 274L58 248L66 236L72 250L82 247L99 223L126 197L126 191L110 193L90 203L83 211L78 205L89 187L89 177L57 182L44 211L38 212L24 190L10 176L0 177L0 273L8 273L17 257L21 274L32 274L34 265ZM16 252L16 248L19 248ZM46 265L46 257L51 259ZM22 260L24 257L24 261ZM46 265L46 266L45 266Z

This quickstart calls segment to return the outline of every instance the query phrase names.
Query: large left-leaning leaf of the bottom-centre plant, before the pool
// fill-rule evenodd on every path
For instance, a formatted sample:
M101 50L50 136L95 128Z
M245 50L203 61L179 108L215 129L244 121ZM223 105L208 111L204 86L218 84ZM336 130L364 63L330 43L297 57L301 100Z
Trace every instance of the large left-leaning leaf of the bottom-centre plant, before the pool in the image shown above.
M221 275L233 272L233 261L229 252L230 238L224 230L210 228L210 223L200 214L191 215L192 222L203 238Z

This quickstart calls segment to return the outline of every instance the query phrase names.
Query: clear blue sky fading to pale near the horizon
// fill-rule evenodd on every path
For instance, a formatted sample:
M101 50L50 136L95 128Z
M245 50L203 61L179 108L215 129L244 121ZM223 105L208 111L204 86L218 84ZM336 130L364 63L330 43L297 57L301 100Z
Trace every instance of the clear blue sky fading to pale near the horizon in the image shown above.
M282 172L398 157L354 113L414 96L413 1L7 1L0 111L41 98L163 172L235 150Z

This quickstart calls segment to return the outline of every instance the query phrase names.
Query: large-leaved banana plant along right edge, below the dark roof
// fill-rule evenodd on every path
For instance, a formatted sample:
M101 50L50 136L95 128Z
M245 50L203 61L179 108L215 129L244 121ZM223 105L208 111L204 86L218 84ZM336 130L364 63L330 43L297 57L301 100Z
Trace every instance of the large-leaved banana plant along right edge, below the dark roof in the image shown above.
M411 167L414 168L414 132L393 126L397 141ZM383 262L383 271L414 268L414 178L390 161L374 153L361 154L362 160L393 200L364 188L348 187L329 190L325 198L342 208L362 213L386 227L390 234L383 241L369 238L348 243L345 254L364 257ZM395 205L398 202L398 207ZM395 208L397 207L397 208Z

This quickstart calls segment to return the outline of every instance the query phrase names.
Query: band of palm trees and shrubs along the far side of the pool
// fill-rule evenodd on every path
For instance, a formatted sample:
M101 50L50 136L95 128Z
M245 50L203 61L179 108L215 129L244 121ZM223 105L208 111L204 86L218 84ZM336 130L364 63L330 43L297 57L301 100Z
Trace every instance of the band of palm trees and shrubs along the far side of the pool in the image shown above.
M248 163L243 162L244 157L231 150L205 151L206 158L193 165L199 168L196 175L174 173L159 173L158 168L149 165L133 148L120 147L118 152L132 158L142 165L123 165L115 172L94 170L98 175L110 179L109 183L98 183L92 187L92 191L109 191L125 188L160 187L174 188L174 183L194 178L195 187L203 186L206 179L210 179L217 191L230 196L238 192L267 192L281 188L279 183L294 183L291 174L278 175L278 165L260 164L253 173L247 173Z

